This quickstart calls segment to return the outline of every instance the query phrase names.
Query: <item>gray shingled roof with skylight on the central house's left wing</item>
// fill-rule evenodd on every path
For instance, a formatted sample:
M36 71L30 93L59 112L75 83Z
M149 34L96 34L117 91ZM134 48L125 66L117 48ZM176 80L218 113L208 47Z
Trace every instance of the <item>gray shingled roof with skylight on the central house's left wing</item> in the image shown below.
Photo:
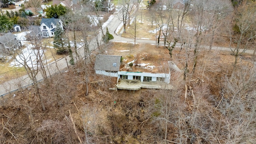
M96 56L94 69L106 71L119 71L122 56L111 56L98 54Z

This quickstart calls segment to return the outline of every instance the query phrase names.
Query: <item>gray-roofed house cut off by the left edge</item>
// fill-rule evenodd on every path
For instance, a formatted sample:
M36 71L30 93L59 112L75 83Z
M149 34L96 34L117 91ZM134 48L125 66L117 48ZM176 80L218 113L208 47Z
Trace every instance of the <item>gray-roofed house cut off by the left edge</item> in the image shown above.
M2 50L15 50L22 46L20 40L17 39L17 36L8 32L7 34L0 36L0 49Z

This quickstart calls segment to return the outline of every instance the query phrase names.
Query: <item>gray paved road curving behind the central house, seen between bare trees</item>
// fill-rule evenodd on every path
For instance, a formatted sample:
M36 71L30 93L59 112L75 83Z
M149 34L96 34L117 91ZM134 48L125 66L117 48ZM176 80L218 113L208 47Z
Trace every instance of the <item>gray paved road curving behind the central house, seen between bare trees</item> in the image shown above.
M118 14L114 14L113 16L114 16L114 18L111 20L111 22L108 22L108 24L107 24L110 34L112 34L114 36L114 40L112 40L112 41L134 42L134 39L122 38L121 37L122 32L119 35L114 34L116 28L120 25L121 21L118 19ZM106 27L104 28L104 32L106 32ZM99 40L101 39L100 32L98 34L98 38L99 38ZM147 43L147 44L156 44L155 40L138 39L138 40L136 40L136 42ZM161 41L160 44L163 44L163 42ZM179 44L177 44L177 46L179 46ZM205 47L208 48L208 46L205 46ZM97 44L96 44L96 40L94 38L91 40L91 42L89 44L89 49L94 50L96 48L97 48ZM212 50L230 51L230 48L213 46ZM253 50L246 50L246 52L252 54ZM78 53L80 53L80 55L83 57L84 56L83 48L79 48ZM66 58L67 58L67 61L69 62L69 56L67 56ZM62 59L58 60L57 62L52 62L52 63L48 64L48 66L46 68L47 75L50 76L50 75L56 74L56 73L64 70L65 68L67 68L67 62L66 62L65 58L62 58ZM37 79L42 80L42 75L40 73L38 73ZM9 92L14 92L14 91L16 91L20 88L24 88L30 84L32 84L32 81L28 78L28 75L4 82L3 84L0 84L0 96L3 96Z

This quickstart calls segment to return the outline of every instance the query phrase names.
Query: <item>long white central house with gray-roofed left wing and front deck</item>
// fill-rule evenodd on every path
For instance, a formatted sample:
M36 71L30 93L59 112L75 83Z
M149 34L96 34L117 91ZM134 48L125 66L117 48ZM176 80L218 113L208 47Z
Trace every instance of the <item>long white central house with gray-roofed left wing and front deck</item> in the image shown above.
M97 55L94 69L96 74L117 77L117 89L140 90L140 88L172 89L169 73L120 71L122 56ZM167 64L170 66L170 64Z

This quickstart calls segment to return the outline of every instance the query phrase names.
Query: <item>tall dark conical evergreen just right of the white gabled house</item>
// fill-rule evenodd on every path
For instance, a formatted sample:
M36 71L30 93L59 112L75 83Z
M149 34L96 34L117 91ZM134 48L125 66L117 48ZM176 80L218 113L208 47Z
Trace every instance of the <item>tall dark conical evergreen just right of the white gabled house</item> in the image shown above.
M64 30L59 25L55 28L53 46L57 48L57 54L66 54L68 52Z

